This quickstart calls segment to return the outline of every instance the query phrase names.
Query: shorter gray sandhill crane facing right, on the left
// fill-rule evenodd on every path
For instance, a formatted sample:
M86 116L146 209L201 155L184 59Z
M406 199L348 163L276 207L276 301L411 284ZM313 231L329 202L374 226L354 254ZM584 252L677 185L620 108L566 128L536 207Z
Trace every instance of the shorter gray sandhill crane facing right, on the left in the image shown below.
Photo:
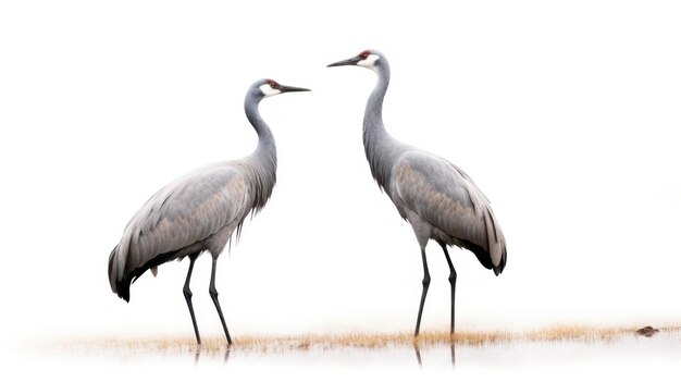
M198 344L201 337L189 289L194 261L203 251L212 256L209 292L227 343L232 344L218 301L215 264L234 231L238 236L244 219L260 211L272 195L276 182L276 146L258 104L265 97L288 91L309 90L280 85L272 79L253 83L246 94L244 108L258 133L256 150L239 160L198 169L161 188L127 223L121 242L109 256L111 289L126 301L129 301L131 283L147 270L156 275L158 266L188 257L189 270L183 292Z

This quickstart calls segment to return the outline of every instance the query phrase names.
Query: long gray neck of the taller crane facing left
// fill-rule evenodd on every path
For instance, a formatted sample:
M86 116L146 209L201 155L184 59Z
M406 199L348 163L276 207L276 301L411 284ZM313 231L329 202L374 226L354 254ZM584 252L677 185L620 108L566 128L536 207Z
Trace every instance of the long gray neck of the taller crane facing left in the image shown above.
M376 74L379 82L367 101L362 133L371 174L379 186L387 192L393 160L401 151L403 145L387 134L383 126L383 99L391 82L391 66L385 58L377 62Z

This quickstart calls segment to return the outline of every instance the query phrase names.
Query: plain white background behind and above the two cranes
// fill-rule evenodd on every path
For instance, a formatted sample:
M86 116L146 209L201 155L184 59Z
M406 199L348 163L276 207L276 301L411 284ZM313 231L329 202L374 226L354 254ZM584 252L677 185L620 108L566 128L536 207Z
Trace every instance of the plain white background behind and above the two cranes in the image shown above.
M391 62L388 132L465 169L507 237L499 278L450 250L458 328L678 324L679 20L674 1L3 2L3 336L191 335L187 261L125 304L108 256L162 185L255 148L262 77L313 91L261 103L278 182L219 261L233 336L411 331L419 247L361 143L375 75L325 67L367 48ZM429 261L422 329L445 330L436 245ZM209 276L201 257L195 309L219 335Z

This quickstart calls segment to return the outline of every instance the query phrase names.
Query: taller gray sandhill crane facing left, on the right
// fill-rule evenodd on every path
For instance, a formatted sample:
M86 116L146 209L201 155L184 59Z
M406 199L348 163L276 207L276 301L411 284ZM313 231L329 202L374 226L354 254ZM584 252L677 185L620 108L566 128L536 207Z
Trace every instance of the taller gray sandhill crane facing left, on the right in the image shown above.
M423 303L431 283L425 246L434 239L449 266L451 285L450 333L454 333L454 297L457 273L447 246L456 245L475 254L478 260L498 275L506 266L506 241L490 201L461 169L438 156L394 139L383 126L383 98L391 81L387 59L376 50L329 66L357 65L371 69L379 82L367 102L363 123L364 152L371 174L401 215L421 247L423 289L414 336L419 335Z

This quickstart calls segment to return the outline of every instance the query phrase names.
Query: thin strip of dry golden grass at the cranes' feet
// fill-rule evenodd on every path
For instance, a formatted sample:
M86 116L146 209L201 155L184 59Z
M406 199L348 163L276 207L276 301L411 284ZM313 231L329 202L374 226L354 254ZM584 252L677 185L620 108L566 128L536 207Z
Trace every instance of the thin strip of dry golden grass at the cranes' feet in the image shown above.
M459 331L454 337L448 332L424 332L414 338L411 333L351 333L351 334L309 334L292 336L237 336L232 349L257 353L306 352L309 349L329 350L334 348L385 348L388 346L428 347L451 344L483 346L512 342L608 342L626 335L636 335L639 328L598 326L550 326L525 332L507 331ZM659 328L661 332L679 332L681 326ZM154 353L223 353L226 348L223 336L203 337L199 347L193 336L185 337L138 337L138 338L85 338L60 343L61 346L89 352L126 350Z

